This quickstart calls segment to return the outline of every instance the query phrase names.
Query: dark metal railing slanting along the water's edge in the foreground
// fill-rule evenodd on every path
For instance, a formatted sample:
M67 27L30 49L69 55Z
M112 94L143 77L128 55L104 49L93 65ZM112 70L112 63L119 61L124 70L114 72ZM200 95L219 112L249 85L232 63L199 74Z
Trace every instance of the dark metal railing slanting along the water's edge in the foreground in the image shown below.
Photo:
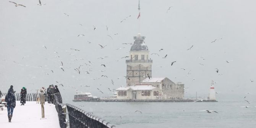
M62 102L60 93L55 93L53 103L55 103L55 108L58 112L61 128L66 128L66 124L70 128L115 128L115 125L111 125L109 122L92 115L90 112L85 112L74 105L61 104L60 102ZM68 113L63 111L63 106L66 106ZM65 115L68 115L69 122L66 122Z

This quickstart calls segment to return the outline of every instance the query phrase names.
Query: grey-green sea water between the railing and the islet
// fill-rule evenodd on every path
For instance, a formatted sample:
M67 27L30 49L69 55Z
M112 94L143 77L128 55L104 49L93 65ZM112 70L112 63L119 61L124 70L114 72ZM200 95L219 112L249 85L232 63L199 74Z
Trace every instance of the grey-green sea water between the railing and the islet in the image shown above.
M117 128L256 128L256 104L246 102L69 103L93 112ZM253 107L241 107L246 105ZM134 113L136 110L141 110L142 114ZM200 110L215 110L219 113Z

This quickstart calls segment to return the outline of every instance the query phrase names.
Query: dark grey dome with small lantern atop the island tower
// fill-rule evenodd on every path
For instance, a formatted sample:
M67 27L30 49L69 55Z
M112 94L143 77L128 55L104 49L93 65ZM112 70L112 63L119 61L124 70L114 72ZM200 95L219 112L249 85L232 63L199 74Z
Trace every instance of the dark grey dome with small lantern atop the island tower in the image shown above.
M134 44L131 46L130 51L148 51L147 45L144 42L145 37L141 36L141 34L138 34L137 36L134 36L133 39Z

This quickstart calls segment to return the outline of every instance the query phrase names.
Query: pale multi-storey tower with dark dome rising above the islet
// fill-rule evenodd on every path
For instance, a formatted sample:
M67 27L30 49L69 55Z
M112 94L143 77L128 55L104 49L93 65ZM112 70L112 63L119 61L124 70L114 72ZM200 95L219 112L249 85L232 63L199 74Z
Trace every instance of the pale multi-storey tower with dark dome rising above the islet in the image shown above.
M152 60L149 60L149 50L144 42L145 37L138 34L134 36L134 44L131 46L130 59L126 60L127 69L126 86L139 84L148 74L151 77ZM147 76L148 77L148 76Z

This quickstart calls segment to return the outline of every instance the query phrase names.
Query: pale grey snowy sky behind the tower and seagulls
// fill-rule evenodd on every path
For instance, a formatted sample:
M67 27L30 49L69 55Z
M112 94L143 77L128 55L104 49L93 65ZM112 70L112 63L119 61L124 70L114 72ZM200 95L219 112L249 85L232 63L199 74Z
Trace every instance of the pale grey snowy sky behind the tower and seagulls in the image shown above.
M139 32L138 0L42 0L44 6L38 6L37 0L14 1L26 8L8 1L0 1L2 92L13 85L18 92L24 86L34 93L42 86L58 85L58 81L64 85L58 86L62 96L71 100L76 89L104 97L113 95L108 88L126 86L125 58L120 58L129 55L131 45L122 43L133 43ZM256 81L250 81L256 80L255 4L253 0L141 0L140 33L146 36L150 53L160 55L150 56L152 77L184 83L189 87L185 96L197 92L207 97L213 79L217 100L252 99L256 89ZM98 44L107 46L100 49ZM116 50L121 47L125 48ZM94 64L86 66L88 61ZM170 66L173 61L177 62ZM74 70L79 65L83 65L80 75ZM92 71L86 74L89 68ZM186 76L189 71L191 75Z

